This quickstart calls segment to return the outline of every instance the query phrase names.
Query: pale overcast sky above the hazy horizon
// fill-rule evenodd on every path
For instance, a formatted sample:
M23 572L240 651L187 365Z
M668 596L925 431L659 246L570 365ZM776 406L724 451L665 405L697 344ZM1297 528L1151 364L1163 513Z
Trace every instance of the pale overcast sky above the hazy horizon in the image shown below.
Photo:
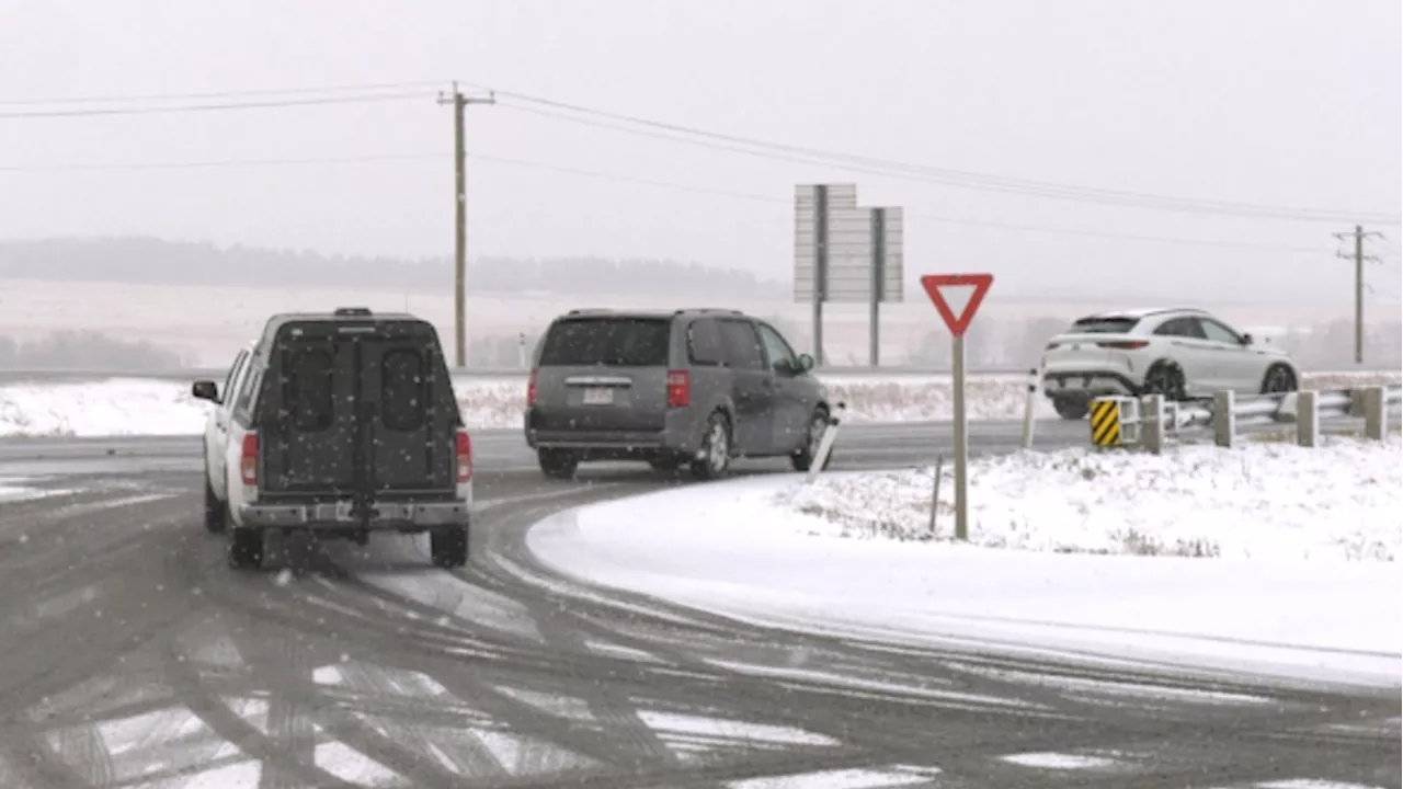
M0 0L0 236L449 254L452 114L435 94L455 79L930 168L1403 222L1400 42L1397 0ZM365 104L13 117L299 98L59 104L84 97L370 83L424 84ZM905 206L909 272L989 270L1005 292L1188 282L1351 298L1331 233L1352 220L958 188L501 98L469 110L474 256L671 257L787 279L794 184L836 181L864 204ZM382 156L405 159L62 170ZM1397 232L1403 251L1403 227L1371 229ZM1403 296L1403 254L1371 251L1385 257L1371 298Z

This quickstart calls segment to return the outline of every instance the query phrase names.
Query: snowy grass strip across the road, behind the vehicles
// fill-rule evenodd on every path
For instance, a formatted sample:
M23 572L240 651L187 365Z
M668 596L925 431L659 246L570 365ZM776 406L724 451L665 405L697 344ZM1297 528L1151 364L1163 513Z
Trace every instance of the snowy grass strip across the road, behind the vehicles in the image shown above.
M1403 375L1326 373L1308 376L1308 386L1397 383ZM948 420L953 413L948 376L825 379L835 402L847 403L850 421ZM975 420L1021 418L1027 378L969 376L968 414ZM525 378L455 379L463 418L474 430L515 430L522 424ZM13 383L0 386L0 437L6 435L195 435L203 430L206 404L191 399L189 383L160 379L109 379L86 383ZM1054 417L1038 397L1040 418Z

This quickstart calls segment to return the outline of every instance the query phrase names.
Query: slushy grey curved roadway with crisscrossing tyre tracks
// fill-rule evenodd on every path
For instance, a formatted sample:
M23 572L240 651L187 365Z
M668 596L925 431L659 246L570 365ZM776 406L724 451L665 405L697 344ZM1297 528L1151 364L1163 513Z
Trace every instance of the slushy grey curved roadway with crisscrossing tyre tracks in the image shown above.
M947 445L849 427L835 468ZM1397 694L793 635L553 576L530 524L672 480L546 482L515 431L476 451L467 569L401 538L290 577L226 567L198 438L0 444L0 480L52 490L0 504L0 786L1403 786Z

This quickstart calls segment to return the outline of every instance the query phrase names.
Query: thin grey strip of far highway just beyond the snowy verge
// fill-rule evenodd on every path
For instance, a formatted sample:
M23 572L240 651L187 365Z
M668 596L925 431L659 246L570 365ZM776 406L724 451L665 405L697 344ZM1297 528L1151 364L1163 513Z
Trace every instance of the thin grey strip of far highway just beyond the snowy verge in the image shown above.
M950 368L936 366L824 366L815 371L824 378L915 378L923 375L951 375ZM969 375L1027 375L1027 366L967 368ZM1323 373L1383 373L1403 369L1397 366L1345 366L1305 371ZM101 380L108 378L142 378L147 380L195 380L201 378L222 380L227 368L182 368L161 371L139 369L0 369L0 385L22 382ZM467 368L452 371L453 378L526 378L521 368Z

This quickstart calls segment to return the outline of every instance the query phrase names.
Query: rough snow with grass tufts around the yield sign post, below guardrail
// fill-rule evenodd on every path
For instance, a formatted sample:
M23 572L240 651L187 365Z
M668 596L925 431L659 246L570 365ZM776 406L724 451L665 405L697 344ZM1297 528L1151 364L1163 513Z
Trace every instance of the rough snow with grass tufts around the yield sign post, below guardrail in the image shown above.
M776 501L805 533L950 539L954 480L934 469L825 475ZM969 542L1059 553L1403 560L1403 445L1327 438L1163 455L1066 449L969 462Z

